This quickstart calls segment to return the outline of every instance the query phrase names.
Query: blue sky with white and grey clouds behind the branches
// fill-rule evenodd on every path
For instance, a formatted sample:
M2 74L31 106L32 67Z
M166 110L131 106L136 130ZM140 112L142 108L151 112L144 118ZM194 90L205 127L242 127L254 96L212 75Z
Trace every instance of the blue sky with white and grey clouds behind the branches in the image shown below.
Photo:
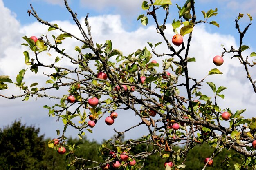
M135 52L137 49L143 49L147 46L147 42L153 44L163 41L155 31L155 26L152 20L148 26L142 26L137 21L137 17L143 14L141 10L141 2L139 0L69 0L70 7L78 13L78 18L83 23L83 18L89 13L89 22L92 26L92 35L94 42L104 43L111 39L114 48L123 51L124 55ZM177 18L177 7L175 3L182 6L183 0L172 0L173 6L170 10L170 18L167 21L166 36L171 39L174 35L171 22ZM35 35L40 37L41 34L47 33L47 27L39 24L33 17L29 17L27 10L32 4L38 15L53 24L58 24L62 29L71 31L79 36L79 30L76 28L70 14L65 9L63 0L0 0L0 75L10 75L13 81L21 69L27 68L24 63L23 51L27 50L22 36L30 37ZM195 3L198 19L202 18L201 11L218 8L218 15L212 17L213 20L220 24L220 27L199 24L193 32L193 40L191 43L191 57L195 57L197 62L190 63L190 76L197 79L204 78L211 68L216 68L212 63L212 58L215 55L222 53L221 44L227 49L230 46L238 47L239 37L235 29L235 18L238 13L250 13L252 17L256 17L256 11L253 7L256 6L255 0L198 0ZM211 18L210 18L211 19ZM244 27L248 24L247 16L240 21L240 26ZM250 27L247 35L245 35L243 43L250 46L250 49L245 51L244 56L256 51L255 34L256 26L253 24ZM187 35L184 36L186 44ZM70 41L72 46L67 46L66 51L74 53L76 42ZM148 47L149 48L149 47ZM175 47L176 48L176 47ZM164 45L157 47L158 51L167 52ZM49 57L49 56L48 56ZM162 59L154 58L159 63ZM45 56L47 61L47 56ZM225 55L224 64L218 69L223 72L223 75L211 75L207 77L207 82L214 82L216 86L228 87L223 91L225 100L218 99L222 109L231 108L233 112L236 109L244 109L247 111L244 117L254 117L254 106L256 105L256 95L252 90L249 81L245 76L243 67L238 60L231 59L231 55ZM256 78L255 71L252 71L252 77ZM40 75L29 75L27 82L32 83L35 79L40 82ZM212 93L208 85L202 88L202 92L211 96ZM11 92L1 91L0 93L10 95L11 93L19 94L15 88ZM62 123L56 123L56 119L48 117L47 110L43 105L49 104L47 99L29 99L27 102L22 102L22 99L8 100L0 98L0 128L11 124L15 119L21 119L27 125L33 124L40 128L41 134L45 137L56 137L56 129L62 130ZM103 120L97 123L93 129L93 134L88 134L89 139L102 141L110 138L113 134L113 128L119 131L125 130L131 125L137 124L139 119L133 117L132 113L119 110L119 117L113 126L106 126ZM125 121L126 120L126 121ZM127 121L128 120L128 121ZM124 122L126 122L124 124ZM140 128L136 132L129 132L128 137L139 137L144 135L146 129ZM77 132L73 129L68 129L67 136L77 136Z

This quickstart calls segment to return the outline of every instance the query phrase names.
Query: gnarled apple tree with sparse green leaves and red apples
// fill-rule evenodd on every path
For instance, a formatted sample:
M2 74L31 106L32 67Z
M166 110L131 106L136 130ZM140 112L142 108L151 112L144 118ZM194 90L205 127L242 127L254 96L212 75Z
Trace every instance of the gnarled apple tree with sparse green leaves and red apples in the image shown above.
M91 34L91 29L94 28L88 21L89 15L81 24L77 13L72 11L67 0L64 0L64 3L81 36L43 20L31 5L31 9L27 11L29 16L49 26L48 33L40 38L23 37L25 42L22 45L27 46L27 51L23 52L27 69L20 70L15 81L9 76L0 76L0 89L7 89L7 84L15 84L20 88L21 94L1 96L9 99L22 97L25 101L31 97L46 97L56 102L52 106L43 106L49 111L49 116L57 117L61 120L60 123L64 124L63 131L58 134L60 137L49 141L49 147L56 150L61 147L69 148L69 152L65 153L67 169L79 162L81 169L140 170L147 157L154 154L165 160L164 165L160 165L163 169L184 169L186 155L197 144L203 143L208 143L215 149L202 160L202 170L207 166L214 166L214 157L222 150L227 151L223 160L225 165L229 165L232 157L240 157L243 162L236 163L235 169L256 169L256 117L245 119L242 116L245 109L235 111L232 108L220 108L220 100L217 98L224 99L222 91L226 87L216 87L214 82L206 82L206 78L198 80L189 75L191 71L188 65L190 62L196 62L195 58L189 57L193 30L197 29L198 24L219 27L216 21L211 20L217 15L217 9L198 14L195 13L195 0L179 2L176 5L173 5L171 0L145 0L141 6L145 13L139 15L138 20L144 26L148 22L154 22L162 42L148 42L144 48L124 55L121 49L115 49L111 40L106 40L104 44L95 42ZM178 8L178 13L173 13L175 19L170 16L172 8ZM157 15L158 12L165 14ZM245 29L241 29L238 22L243 17L243 14L239 14L235 20L235 27L240 34L239 48L231 46L227 49L223 46L223 53L213 59L217 68L209 69L205 76L221 76L222 72L218 66L223 63L225 54L232 53L232 58L243 64L248 81L256 93L256 81L249 73L255 64L249 59L255 57L256 53L251 53L250 57L243 56L243 51L249 48L243 45L243 38L252 24L252 17L247 14L250 23ZM172 39L166 36L166 26L170 20L173 20ZM51 34L53 30L58 32ZM183 42L184 38L187 38L186 42ZM82 44L74 46L76 55L70 55L70 51L63 48L67 39L74 39ZM159 44L166 46L169 52L157 53ZM45 62L41 57L52 53L58 55L50 62ZM161 57L164 58L162 63L154 60ZM70 65L65 66L67 62ZM36 82L25 84L27 72L40 73L40 70L43 70L41 76L45 77L46 85ZM204 82L209 86L202 86ZM214 97L202 93L202 88L211 89ZM60 95L61 89L64 90ZM186 94L180 95L181 90ZM54 93L56 91L59 92ZM99 148L99 156L103 157L104 161L78 157L78 146L66 143L67 127L77 129L82 139L83 135L92 132L99 119L105 119L106 124L111 126L118 116L118 110L122 109L129 110L141 121L121 132L114 129L115 137ZM222 126L222 121L228 121L229 127ZM137 140L121 140L127 131L142 126L148 128L148 135ZM153 149L146 147L143 152L132 154L130 151L139 144L152 145ZM181 146L181 149L174 150L175 146ZM239 156L230 150L236 151ZM63 153L63 150L61 151ZM83 164L87 163L93 163L94 166L85 168Z

